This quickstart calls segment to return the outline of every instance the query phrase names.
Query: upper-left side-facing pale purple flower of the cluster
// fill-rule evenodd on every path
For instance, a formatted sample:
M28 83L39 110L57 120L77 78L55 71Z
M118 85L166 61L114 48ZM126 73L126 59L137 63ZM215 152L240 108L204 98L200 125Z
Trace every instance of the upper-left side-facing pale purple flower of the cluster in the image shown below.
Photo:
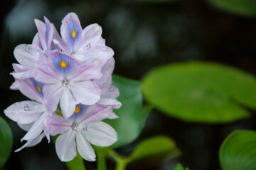
M45 18L45 23L35 19L35 25L38 28L38 33L33 39L32 45L18 45L14 49L14 56L18 61L19 66L23 69L23 72L11 73L13 77L17 79L27 79L33 77L32 72L38 66L38 60L46 60L47 55L51 53L51 50L60 50L53 42L52 38L61 40L60 35L57 33L55 26L53 26L48 18Z

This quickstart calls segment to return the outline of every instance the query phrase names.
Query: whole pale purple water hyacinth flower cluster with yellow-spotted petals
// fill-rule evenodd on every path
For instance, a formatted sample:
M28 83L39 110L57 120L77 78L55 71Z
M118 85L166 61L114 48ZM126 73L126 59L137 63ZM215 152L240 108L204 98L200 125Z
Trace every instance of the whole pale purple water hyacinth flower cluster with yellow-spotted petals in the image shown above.
M60 35L44 18L35 19L38 29L30 45L18 45L11 75L10 89L19 90L31 101L21 101L4 113L28 131L24 147L37 145L43 137L58 135L57 156L63 162L77 152L88 161L95 161L92 145L108 147L117 140L115 130L102 122L118 116L116 100L119 91L112 86L113 50L101 38L101 27L91 24L82 29L75 13L62 20Z

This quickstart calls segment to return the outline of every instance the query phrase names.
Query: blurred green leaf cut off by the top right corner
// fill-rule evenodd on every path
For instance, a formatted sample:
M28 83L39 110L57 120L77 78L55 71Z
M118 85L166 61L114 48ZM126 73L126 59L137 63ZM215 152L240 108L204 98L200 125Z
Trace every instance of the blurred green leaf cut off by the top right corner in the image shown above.
M243 16L256 16L255 0L210 0L211 3L224 11L238 13Z

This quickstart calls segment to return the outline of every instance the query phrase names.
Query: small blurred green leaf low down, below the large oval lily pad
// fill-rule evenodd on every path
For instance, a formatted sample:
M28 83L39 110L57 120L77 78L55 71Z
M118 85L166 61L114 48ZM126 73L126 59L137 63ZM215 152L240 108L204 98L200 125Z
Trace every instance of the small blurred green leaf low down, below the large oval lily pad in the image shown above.
M169 156L171 154L179 154L179 149L177 149L175 142L169 137L156 136L140 142L128 159L131 162L147 157Z

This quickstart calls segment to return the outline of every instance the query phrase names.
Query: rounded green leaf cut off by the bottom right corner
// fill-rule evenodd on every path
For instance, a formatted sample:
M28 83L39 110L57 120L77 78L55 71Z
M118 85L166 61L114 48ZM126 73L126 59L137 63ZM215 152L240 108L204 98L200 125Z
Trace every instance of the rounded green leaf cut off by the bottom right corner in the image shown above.
M256 132L236 130L221 145L223 170L256 169Z

